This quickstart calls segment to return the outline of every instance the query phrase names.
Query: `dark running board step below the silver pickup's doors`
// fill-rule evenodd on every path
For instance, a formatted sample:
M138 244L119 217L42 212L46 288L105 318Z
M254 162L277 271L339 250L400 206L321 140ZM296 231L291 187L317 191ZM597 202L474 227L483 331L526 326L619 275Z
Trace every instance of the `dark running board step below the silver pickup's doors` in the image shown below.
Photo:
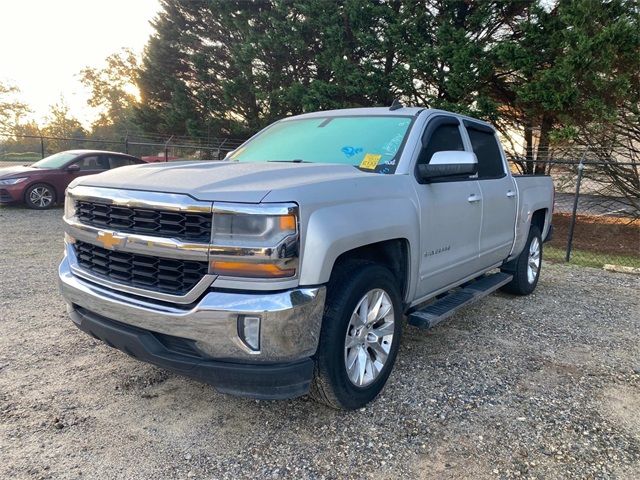
M409 314L409 325L418 328L433 328L443 320L449 318L462 307L477 302L492 292L509 283L513 275L508 273L494 273L485 275L464 285L463 288L452 291L444 297L430 303L422 310Z

